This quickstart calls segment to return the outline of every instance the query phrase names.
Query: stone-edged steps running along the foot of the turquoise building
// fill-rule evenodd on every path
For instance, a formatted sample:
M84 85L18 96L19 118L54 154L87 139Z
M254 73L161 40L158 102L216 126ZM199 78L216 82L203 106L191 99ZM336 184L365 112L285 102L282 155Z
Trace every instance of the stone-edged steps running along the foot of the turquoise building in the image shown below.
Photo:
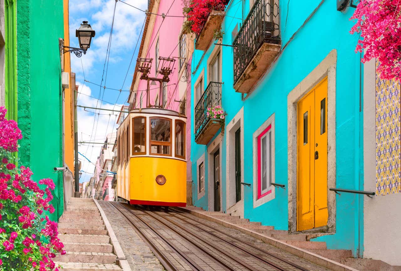
M231 216L223 212L205 211L195 206L187 206L186 208L179 209L186 210L186 212L190 212L195 216L217 222L223 226L237 229L265 243L275 245L290 253L304 257L309 261L333 270L401 271L401 266L389 265L380 260L352 258L352 252L350 250L327 249L326 242L310 241L310 239L318 236L316 233L289 234L288 231L275 230L273 226L262 226L260 222L249 222L249 219L240 218L239 216ZM281 242L291 246L286 246ZM299 249L298 251L294 250L297 248ZM306 251L306 253L304 253L304 251Z

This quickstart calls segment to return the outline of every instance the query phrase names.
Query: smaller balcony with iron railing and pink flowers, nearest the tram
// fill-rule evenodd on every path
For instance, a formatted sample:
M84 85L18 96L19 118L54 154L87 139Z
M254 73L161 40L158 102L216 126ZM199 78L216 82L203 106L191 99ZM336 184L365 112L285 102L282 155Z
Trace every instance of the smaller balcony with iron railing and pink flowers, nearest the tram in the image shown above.
M195 107L195 142L207 145L221 127L220 119L208 116L207 109L221 105L221 84L210 82Z

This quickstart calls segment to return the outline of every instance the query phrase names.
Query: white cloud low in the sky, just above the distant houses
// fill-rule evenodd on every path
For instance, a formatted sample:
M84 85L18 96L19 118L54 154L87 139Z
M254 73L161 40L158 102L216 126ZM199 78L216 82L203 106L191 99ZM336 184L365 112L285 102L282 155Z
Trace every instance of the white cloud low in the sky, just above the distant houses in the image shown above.
M78 88L78 92L80 93L78 104L104 109L121 109L121 104L111 105L105 102L101 103L101 101L89 97L93 96L90 87L86 85L81 87L81 83L77 83L77 85L80 85ZM98 110L97 113L99 113L99 115L93 114L92 112L95 112L95 109L84 110L81 107L78 108L78 138L80 142L104 142L108 133L116 131L116 115L118 115L118 112ZM96 136L91 136L93 134ZM91 162L96 163L97 157L101 152L101 146L100 144L80 144L80 146L78 146L78 151L85 155ZM95 170L95 166L83 156L79 155L79 160L81 160L82 163L81 170L85 172L93 172ZM83 173L80 182L87 182L90 178L90 174Z

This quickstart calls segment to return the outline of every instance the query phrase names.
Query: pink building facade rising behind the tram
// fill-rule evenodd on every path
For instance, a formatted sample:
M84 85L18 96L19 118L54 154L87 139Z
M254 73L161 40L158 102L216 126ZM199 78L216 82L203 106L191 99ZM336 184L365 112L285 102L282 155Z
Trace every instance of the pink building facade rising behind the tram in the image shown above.
M163 67L163 61L159 57L174 59L169 82L160 83L150 81L149 101L147 100L146 80L141 80L141 73L136 72L131 85L129 97L130 109L145 108L150 103L151 107L160 107L178 111L187 117L186 125L186 158L187 158L187 204L192 204L191 199L191 162L190 162L190 93L191 93L191 59L193 51L194 35L182 33L182 24L186 18L182 14L182 1L151 0L141 41L138 58L152 59L152 68L149 77L161 79L163 76L157 71ZM159 14L159 15L156 15ZM161 16L165 14L166 16ZM188 105L188 106L187 106Z

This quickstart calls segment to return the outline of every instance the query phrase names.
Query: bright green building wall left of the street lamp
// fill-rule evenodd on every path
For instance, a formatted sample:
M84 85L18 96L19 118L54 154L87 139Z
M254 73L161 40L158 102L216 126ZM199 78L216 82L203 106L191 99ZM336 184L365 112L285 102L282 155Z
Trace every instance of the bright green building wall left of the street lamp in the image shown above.
M52 201L58 220L63 213L63 175L54 167L62 159L62 86L59 38L63 38L62 0L18 0L17 82L19 157L34 173L32 180L51 178Z

